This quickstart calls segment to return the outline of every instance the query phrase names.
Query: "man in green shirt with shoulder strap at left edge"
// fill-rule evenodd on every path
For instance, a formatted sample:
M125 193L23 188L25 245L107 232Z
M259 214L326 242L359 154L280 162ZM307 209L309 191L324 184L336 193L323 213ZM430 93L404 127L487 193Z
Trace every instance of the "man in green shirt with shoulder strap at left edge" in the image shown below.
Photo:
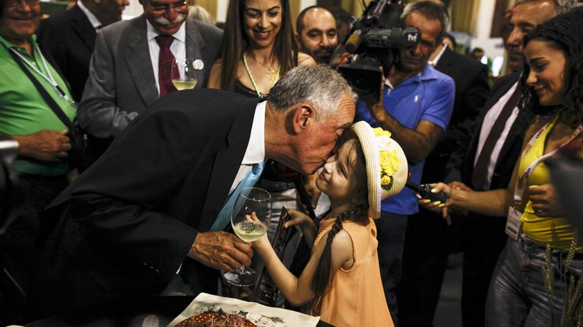
M0 235L1 326L24 322L39 212L68 184L65 160L71 143L67 125L54 110L72 121L76 109L65 80L37 46L39 22L38 0L0 2L0 133L19 143L12 166L24 200L14 223Z

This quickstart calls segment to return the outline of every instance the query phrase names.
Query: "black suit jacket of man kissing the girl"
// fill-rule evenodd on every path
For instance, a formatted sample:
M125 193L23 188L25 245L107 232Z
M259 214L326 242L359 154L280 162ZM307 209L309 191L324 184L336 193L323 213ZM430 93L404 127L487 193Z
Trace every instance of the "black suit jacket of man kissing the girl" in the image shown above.
M180 265L196 274L202 265L185 258L226 200L256 104L187 90L135 119L47 208L59 220L33 281L41 312L158 294ZM195 287L216 286L202 279Z

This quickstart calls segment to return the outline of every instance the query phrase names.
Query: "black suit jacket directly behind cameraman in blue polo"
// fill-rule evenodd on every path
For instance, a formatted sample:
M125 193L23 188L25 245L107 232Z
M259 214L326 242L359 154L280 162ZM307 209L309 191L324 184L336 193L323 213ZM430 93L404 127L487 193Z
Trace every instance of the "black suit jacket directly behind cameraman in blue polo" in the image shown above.
M471 137L470 127L490 94L488 67L449 48L443 52L435 69L453 78L455 102L448 129L423 167L422 183L443 181L447 162L459 140Z

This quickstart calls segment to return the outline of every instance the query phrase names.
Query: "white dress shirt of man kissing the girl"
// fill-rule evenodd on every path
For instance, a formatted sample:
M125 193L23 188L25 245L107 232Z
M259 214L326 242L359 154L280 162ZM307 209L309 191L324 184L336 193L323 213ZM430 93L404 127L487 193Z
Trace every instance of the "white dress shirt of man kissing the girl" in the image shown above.
M246 174L251 171L253 165L265 160L265 106L267 101L262 101L257 103L257 108L255 109L255 116L253 117L253 126L251 126L251 136L249 137L249 143L247 144L247 149L245 150L245 156L243 156L243 161L241 166L239 166L239 171L235 176L235 181L229 190L229 194L237 188L237 185L246 176Z

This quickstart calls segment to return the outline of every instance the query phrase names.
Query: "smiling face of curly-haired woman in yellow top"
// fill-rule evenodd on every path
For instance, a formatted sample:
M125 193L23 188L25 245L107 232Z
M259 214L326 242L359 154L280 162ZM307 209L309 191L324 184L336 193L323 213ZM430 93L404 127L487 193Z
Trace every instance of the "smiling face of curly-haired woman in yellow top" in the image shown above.
M526 83L539 95L539 103L543 106L564 103L566 58L563 51L549 42L532 40L524 52L530 66Z

